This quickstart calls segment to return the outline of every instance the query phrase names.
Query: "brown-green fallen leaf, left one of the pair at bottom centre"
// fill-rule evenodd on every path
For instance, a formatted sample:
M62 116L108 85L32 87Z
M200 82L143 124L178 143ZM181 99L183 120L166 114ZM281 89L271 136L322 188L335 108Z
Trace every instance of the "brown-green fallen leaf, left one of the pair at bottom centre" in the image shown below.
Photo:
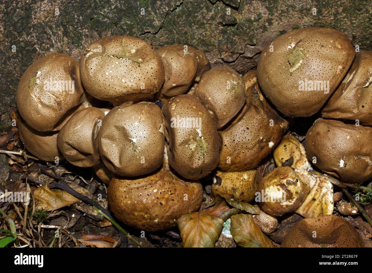
M224 220L198 211L178 219L183 247L214 247L221 233Z

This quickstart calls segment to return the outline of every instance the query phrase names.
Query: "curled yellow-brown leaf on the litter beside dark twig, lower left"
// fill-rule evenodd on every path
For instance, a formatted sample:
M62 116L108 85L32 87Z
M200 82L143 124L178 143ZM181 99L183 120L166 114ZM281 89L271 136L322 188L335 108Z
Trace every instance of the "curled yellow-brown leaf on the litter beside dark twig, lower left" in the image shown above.
M44 208L45 211L54 211L68 205L75 204L79 199L58 189L50 189L48 185L35 189L33 196L36 199L35 209Z

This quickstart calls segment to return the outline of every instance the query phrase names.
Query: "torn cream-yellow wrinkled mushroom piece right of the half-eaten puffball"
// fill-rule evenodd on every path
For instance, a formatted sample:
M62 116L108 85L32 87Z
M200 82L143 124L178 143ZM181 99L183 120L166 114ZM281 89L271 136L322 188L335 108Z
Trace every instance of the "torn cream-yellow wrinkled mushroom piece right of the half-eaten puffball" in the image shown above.
M296 209L296 213L305 218L332 214L334 208L333 184L324 175L315 175L309 172L307 174L310 192Z

